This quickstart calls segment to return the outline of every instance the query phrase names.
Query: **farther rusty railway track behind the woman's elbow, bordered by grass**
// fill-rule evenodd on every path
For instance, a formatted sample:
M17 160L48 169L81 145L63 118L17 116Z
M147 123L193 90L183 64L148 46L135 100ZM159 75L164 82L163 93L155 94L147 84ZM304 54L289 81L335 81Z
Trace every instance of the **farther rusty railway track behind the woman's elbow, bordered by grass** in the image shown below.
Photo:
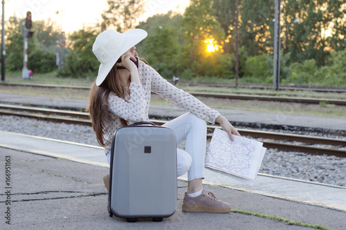
M89 86L64 86L53 84L0 84L4 86L30 86L39 88L71 88L89 90ZM338 106L346 106L346 99L320 99L320 98L305 98L305 97L277 97L271 95L245 95L245 94L226 94L226 93L198 93L189 92L195 97L213 97L219 99L238 99L238 100L257 100L257 101L269 101L269 102L290 102L290 103L302 103L302 104L335 104ZM342 93L346 93L342 92Z

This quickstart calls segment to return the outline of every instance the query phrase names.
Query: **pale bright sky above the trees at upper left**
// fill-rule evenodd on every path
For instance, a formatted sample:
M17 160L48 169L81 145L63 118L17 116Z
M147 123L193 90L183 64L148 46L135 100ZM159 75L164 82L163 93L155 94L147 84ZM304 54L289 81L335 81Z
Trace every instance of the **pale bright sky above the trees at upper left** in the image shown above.
M152 15L166 13L169 10L183 12L189 0L147 0L145 14L139 21L145 21ZM106 0L6 0L5 20L8 17L26 17L30 11L33 21L51 18L62 26L65 32L73 32L84 26L93 26L100 21L103 10L107 10Z

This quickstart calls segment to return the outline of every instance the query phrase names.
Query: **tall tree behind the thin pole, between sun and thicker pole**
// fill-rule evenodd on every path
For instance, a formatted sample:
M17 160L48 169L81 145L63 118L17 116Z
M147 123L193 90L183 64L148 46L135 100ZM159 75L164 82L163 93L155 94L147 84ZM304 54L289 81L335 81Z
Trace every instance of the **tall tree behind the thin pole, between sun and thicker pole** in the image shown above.
M235 50L236 1L214 0L215 17L226 33L225 52ZM273 52L273 1L239 1L239 47L249 55Z

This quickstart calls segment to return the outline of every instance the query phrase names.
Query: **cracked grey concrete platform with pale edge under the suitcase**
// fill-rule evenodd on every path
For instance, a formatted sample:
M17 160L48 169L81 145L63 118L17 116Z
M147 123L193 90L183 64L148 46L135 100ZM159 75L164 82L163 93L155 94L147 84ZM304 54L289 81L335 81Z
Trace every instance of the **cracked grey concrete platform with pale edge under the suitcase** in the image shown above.
M10 156L11 204L1 195L1 229L302 229L275 220L237 213L236 209L280 216L331 229L346 228L344 187L313 184L259 175L253 186L210 175L205 189L230 202L227 214L183 213L185 178L179 178L177 210L156 223L130 224L107 213L107 190L102 177L109 171L103 149L0 131L0 164L5 174ZM0 177L5 184L5 177ZM3 186L5 187L5 186ZM11 226L5 222L11 209ZM4 227L4 228L3 228ZM304 229L306 229L304 227Z

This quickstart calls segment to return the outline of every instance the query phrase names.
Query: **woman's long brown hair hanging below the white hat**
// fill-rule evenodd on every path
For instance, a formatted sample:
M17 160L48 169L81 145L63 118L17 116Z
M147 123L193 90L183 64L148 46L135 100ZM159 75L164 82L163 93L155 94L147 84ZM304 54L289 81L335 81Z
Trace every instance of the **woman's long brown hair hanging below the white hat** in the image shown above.
M111 119L108 105L109 93L115 93L118 97L125 99L125 83L120 79L116 65L111 68L100 86L96 86L96 82L93 83L89 93L89 106L86 108L91 117L96 139L101 146L104 146L103 136L108 133L107 122ZM125 119L119 118L122 126L129 124Z

